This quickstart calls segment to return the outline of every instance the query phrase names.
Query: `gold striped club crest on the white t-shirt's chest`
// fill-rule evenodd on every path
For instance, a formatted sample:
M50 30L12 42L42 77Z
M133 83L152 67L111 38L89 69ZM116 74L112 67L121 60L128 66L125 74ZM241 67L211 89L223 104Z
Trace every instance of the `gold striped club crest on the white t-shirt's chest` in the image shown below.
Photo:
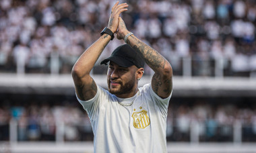
M144 109L139 112L134 112L131 117L133 117L133 126L137 129L144 129L150 125L150 117L148 117L148 111Z

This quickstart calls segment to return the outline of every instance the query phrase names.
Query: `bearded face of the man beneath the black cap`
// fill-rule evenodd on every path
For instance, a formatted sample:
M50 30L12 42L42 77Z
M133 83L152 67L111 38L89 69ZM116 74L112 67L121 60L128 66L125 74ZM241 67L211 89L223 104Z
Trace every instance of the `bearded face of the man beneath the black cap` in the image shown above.
M136 70L136 66L124 68L110 61L107 74L108 91L114 95L133 92L135 89Z

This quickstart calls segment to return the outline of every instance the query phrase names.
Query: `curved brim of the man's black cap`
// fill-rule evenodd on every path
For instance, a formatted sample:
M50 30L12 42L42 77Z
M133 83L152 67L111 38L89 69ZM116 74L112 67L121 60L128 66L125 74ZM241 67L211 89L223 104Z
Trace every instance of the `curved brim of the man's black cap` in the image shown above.
M106 65L106 64L108 64L109 61L113 61L116 64L118 64L119 66L125 67L125 68L133 65L133 62L130 62L129 60L127 60L125 58L121 58L119 56L110 56L110 57L102 60L100 62L100 64L105 64Z

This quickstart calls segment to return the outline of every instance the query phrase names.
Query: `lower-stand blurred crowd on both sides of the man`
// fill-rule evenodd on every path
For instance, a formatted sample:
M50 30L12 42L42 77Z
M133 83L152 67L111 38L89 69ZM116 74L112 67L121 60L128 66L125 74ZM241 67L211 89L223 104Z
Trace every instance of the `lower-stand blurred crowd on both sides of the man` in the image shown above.
M243 142L255 142L256 105L251 102L242 100L234 103L232 99L189 102L174 99L168 107L167 140L189 142L193 139L191 134L196 133L200 142L233 142L235 132L242 134ZM72 100L1 103L0 141L9 140L9 130L15 125L18 141L93 140L86 111Z

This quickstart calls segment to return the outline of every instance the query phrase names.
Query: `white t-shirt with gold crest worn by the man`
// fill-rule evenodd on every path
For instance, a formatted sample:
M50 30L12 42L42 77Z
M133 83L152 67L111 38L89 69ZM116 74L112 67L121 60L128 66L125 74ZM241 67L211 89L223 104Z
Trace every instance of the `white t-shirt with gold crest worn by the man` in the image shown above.
M134 97L121 99L102 87L96 96L81 101L94 132L94 152L167 152L166 117L170 96L160 98L151 84ZM131 103L123 106L119 103Z

